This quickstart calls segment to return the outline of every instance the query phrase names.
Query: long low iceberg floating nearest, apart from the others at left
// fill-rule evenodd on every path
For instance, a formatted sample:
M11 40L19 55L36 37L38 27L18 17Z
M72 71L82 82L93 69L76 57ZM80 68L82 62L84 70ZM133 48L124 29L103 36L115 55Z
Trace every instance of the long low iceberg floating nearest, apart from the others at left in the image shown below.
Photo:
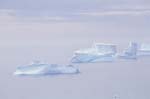
M30 65L20 66L14 75L55 75L55 74L76 74L79 69L73 65L44 64L34 62Z

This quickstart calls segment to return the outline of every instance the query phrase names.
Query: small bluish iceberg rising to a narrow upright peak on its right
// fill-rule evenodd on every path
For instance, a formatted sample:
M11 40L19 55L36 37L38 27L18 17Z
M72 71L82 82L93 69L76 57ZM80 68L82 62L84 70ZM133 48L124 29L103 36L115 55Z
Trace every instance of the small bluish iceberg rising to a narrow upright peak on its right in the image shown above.
M137 48L138 45L137 43L131 42L128 46L127 49L123 51L122 54L119 54L119 58L124 58L124 59L136 59L137 58Z

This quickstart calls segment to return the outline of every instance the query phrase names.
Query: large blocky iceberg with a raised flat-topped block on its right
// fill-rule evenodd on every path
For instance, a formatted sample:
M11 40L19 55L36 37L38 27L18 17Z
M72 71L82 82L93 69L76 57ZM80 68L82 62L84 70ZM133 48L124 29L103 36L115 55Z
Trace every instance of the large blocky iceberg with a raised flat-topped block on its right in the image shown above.
M74 52L72 63L111 62L115 58L116 45L95 43L92 48Z

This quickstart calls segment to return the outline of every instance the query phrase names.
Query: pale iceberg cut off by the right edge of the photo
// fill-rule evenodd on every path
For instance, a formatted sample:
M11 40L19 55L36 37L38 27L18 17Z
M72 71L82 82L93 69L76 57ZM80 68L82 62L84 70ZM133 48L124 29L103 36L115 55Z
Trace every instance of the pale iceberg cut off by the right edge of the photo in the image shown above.
M150 44L143 43L139 45L138 56L150 56Z

